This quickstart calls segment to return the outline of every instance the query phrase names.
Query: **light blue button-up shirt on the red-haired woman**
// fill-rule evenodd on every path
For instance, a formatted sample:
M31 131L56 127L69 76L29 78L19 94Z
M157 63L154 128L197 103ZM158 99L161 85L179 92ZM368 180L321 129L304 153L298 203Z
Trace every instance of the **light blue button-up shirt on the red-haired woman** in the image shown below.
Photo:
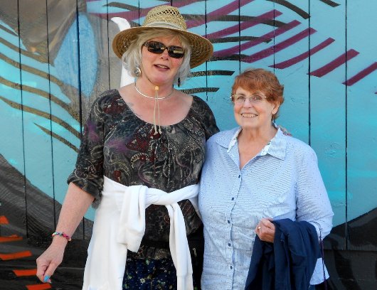
M240 169L237 137L240 128L221 131L207 141L199 210L204 224L203 290L244 289L262 218L305 220L322 238L332 216L317 156L304 142L275 137ZM322 260L311 284L323 281Z

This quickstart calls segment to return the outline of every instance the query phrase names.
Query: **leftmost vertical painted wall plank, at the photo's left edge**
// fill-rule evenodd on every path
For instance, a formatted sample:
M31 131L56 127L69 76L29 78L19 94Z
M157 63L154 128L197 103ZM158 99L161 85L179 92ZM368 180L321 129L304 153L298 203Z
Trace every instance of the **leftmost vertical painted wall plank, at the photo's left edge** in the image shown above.
M4 1L3 1L4 2ZM0 235L26 235L18 5L0 2Z

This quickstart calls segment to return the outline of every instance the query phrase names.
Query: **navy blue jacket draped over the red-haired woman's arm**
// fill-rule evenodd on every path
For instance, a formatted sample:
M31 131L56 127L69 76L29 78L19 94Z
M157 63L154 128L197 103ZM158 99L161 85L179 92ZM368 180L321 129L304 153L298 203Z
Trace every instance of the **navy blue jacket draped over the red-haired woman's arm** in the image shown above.
M309 289L317 259L318 235L309 222L275 220L273 243L255 237L245 290Z

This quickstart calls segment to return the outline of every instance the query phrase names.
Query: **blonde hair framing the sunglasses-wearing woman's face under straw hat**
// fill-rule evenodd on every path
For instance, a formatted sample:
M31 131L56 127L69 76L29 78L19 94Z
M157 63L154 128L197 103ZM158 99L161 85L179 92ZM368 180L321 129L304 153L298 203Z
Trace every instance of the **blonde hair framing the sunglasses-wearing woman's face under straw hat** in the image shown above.
M172 31L164 28L152 28L147 31L139 33L137 38L132 41L129 48L122 55L122 63L124 68L129 71L132 77L137 77L135 74L136 68L140 67L142 63L142 45L152 38L166 37L178 38L181 42L182 48L184 48L184 60L182 61L181 67L178 73L174 77L174 84L177 84L178 78L181 80L181 84L184 83L188 75L190 74L190 57L191 57L191 45L187 38L179 33L178 31Z

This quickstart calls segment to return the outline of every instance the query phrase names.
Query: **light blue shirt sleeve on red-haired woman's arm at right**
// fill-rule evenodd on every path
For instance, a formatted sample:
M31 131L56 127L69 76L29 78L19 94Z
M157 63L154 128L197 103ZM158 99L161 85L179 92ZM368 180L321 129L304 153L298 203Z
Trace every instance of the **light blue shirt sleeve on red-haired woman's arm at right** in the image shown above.
M298 221L310 222L322 239L329 235L334 213L319 172L317 155L309 147L299 166L296 203Z

